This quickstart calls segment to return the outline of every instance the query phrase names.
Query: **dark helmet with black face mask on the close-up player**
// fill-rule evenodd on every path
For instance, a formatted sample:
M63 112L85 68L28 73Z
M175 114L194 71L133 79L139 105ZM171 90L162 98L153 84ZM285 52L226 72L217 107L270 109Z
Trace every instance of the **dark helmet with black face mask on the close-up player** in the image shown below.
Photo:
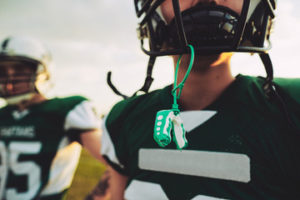
M142 50L152 56L189 53L266 52L276 2L244 0L241 14L213 4L198 4L180 12L179 0L172 0L175 18L169 24L160 14L163 0L135 0ZM144 40L149 40L146 48Z

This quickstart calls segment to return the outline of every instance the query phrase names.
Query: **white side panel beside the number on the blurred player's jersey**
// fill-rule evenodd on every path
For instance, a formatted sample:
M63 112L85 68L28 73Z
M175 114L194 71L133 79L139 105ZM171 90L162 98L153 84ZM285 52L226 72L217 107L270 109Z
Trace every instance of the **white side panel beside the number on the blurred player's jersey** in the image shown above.
M50 167L48 183L42 190L41 196L57 194L70 187L80 153L80 144L77 142L70 144L67 137L61 140Z

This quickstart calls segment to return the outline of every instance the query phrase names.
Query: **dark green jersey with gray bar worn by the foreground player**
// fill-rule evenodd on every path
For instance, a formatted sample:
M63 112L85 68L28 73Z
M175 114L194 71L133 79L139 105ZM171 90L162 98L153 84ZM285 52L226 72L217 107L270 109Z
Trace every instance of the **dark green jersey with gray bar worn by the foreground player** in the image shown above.
M171 109L172 86L116 104L103 124L102 153L129 177L125 199L300 199L300 79L276 79L268 99L263 79L238 75L203 110L184 111L188 146L153 139L159 110Z

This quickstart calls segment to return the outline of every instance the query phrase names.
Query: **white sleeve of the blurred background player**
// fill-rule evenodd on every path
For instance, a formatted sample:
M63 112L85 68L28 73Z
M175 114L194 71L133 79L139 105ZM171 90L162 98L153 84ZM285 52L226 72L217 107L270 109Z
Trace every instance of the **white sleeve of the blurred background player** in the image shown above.
M69 111L64 129L99 129L100 124L100 119L93 111L93 105L86 100Z

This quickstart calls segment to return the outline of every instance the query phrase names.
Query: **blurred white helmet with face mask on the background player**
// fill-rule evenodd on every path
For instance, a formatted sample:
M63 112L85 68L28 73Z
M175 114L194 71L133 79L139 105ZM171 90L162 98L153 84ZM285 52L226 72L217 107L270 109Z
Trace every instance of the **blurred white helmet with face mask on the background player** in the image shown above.
M51 55L46 47L39 41L25 37L9 37L5 39L0 46L0 67L5 63L20 63L14 69L16 75L8 76L4 69L0 69L0 97L4 98L8 104L18 104L21 101L29 100L36 93L42 93L42 88L49 83L49 70L51 64ZM25 66L32 66L33 71L30 74L22 74ZM2 66L2 67L3 67ZM16 87L17 84L28 84L26 90L20 92L9 92L10 87Z

